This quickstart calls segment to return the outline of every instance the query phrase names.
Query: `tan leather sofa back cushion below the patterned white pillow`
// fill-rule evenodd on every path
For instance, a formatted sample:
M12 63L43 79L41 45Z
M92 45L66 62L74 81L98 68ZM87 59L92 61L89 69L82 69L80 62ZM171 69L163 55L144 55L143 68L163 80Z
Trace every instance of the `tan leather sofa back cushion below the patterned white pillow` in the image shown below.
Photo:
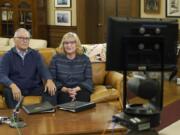
M92 63L92 77L93 84L103 84L105 79L106 71L105 71L105 63Z

